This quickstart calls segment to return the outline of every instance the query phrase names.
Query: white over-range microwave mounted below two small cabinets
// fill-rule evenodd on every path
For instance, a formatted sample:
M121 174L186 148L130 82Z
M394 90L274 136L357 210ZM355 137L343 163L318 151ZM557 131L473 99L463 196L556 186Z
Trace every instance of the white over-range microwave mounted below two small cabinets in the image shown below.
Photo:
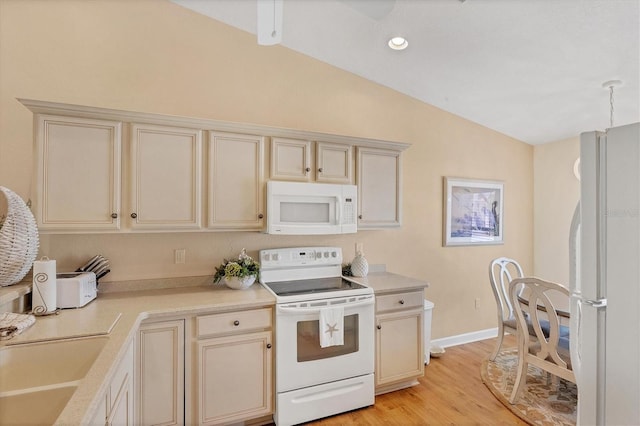
M267 234L320 235L358 231L355 185L267 182Z

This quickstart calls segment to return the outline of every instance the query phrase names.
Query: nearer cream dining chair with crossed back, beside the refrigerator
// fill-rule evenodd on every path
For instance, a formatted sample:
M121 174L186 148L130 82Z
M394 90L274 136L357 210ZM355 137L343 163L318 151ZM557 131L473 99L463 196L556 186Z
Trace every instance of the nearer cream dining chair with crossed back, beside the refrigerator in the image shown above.
M540 278L515 278L509 284L509 298L515 306L518 330L518 372L509 402L514 404L527 382L529 364L572 383L576 382L569 354L569 328L560 324L552 300L569 298L569 290L561 284ZM534 334L532 336L531 334Z

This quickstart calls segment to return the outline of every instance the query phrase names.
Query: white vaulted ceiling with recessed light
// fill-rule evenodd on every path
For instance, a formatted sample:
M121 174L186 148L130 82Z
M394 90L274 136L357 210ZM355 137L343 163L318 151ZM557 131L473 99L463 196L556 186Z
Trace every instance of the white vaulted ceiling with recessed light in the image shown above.
M256 0L173 1L256 33ZM610 127L610 80L622 82L614 125L640 121L639 0L284 0L283 9L283 46L530 144ZM395 35L406 50L389 49Z

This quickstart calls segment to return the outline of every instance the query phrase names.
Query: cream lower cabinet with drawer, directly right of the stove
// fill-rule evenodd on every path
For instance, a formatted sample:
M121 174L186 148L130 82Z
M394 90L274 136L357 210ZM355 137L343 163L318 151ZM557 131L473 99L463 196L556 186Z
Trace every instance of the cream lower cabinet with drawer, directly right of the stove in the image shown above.
M423 295L376 296L376 394L411 386L424 374Z

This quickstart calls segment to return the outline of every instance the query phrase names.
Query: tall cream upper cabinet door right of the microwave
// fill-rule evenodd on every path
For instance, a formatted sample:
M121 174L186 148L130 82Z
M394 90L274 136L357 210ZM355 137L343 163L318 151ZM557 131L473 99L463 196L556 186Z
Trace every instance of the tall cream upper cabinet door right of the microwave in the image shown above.
M400 152L358 148L358 228L396 228L401 225Z

